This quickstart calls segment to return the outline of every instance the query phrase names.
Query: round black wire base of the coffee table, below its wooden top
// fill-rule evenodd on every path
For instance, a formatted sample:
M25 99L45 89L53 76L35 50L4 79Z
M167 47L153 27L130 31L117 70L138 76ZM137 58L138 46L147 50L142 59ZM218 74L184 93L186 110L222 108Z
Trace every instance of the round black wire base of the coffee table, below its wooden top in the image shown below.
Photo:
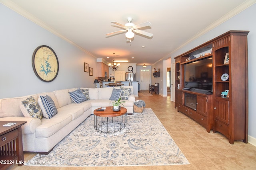
M94 115L94 129L101 133L115 133L126 127L126 114L115 117Z

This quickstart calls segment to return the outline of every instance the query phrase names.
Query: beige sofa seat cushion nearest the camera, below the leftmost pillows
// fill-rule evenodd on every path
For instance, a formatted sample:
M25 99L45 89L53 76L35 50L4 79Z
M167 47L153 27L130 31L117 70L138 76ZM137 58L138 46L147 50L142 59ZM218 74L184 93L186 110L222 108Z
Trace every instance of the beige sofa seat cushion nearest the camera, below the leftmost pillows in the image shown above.
M72 121L70 114L56 114L51 119L42 118L42 124L36 128L37 138L47 138Z

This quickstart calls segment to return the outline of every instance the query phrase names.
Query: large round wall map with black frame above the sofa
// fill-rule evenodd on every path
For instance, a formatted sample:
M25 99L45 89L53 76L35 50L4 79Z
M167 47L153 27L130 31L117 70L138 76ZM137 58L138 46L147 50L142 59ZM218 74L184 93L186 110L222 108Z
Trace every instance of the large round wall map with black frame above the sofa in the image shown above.
M47 45L37 47L32 56L32 66L36 76L44 81L53 81L59 72L59 61L53 49Z

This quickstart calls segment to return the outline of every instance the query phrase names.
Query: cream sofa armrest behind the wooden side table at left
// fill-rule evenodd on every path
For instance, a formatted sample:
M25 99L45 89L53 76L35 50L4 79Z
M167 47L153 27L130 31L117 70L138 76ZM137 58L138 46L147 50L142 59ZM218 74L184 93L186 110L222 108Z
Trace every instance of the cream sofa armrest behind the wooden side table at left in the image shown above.
M36 128L41 125L41 120L35 117L3 117L0 121L26 121L21 127L22 134L35 133Z

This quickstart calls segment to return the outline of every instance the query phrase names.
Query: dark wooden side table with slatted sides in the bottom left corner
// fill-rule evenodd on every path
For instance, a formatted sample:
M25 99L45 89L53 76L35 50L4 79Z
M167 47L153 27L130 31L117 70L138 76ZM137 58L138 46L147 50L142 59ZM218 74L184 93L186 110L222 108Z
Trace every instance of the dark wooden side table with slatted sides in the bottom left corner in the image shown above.
M0 169L4 170L12 164L24 164L21 126L26 121L16 122L12 126L3 126L10 121L0 121Z

